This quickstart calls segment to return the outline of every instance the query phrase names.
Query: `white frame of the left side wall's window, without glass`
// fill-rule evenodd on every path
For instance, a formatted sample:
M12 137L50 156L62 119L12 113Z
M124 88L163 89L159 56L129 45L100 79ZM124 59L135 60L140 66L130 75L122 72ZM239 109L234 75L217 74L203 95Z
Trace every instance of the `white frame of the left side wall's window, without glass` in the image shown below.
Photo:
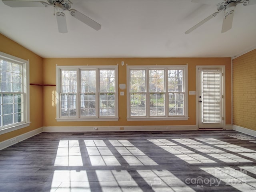
M0 59L8 60L10 62L16 62L22 66L22 89L23 89L23 121L15 124L10 124L0 128L0 135L14 130L18 130L24 127L30 126L30 89L29 89L29 60L24 60L4 52L0 52ZM4 93L4 92L1 92Z

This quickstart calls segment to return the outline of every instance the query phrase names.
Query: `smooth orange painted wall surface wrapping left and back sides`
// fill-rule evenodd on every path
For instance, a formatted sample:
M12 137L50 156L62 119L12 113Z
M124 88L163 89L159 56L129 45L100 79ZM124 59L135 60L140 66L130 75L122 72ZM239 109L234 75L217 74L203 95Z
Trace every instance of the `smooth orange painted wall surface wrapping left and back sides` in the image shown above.
M128 65L184 65L188 63L188 90L196 90L196 65L226 66L226 124L231 124L231 59L230 58L41 58L30 50L0 34L0 51L30 60L30 83L56 84L56 64L58 65L116 65L118 83L126 84ZM196 96L188 96L188 116L186 121L127 121L126 96L119 96L119 121L106 122L57 122L54 94L55 86L30 86L29 127L0 135L0 142L35 130L42 126L147 126L147 125L195 125ZM126 95L126 91L125 95ZM118 94L119 95L119 94Z

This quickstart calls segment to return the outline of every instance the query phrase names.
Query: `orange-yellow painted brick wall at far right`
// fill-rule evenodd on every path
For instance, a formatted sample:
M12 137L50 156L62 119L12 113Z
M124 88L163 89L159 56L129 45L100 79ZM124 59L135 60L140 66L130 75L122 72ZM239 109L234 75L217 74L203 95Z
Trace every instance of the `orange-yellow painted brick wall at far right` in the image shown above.
M256 49L233 60L233 124L256 130Z

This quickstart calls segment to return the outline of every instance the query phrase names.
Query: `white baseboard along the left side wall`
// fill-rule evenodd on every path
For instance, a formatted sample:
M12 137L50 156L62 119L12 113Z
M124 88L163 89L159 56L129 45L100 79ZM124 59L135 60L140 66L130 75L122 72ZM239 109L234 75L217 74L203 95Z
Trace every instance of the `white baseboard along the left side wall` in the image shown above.
M18 142L21 142L25 139L28 139L32 136L35 136L39 133L42 133L43 132L43 128L38 128L38 129L35 129L35 130L32 130L30 132L27 132L27 133L24 133L22 135L19 135L19 136L16 136L16 137L13 137L13 138L10 138L8 140L5 140L5 141L2 141L0 142L0 150L6 148L6 147L9 147L9 146L12 146Z

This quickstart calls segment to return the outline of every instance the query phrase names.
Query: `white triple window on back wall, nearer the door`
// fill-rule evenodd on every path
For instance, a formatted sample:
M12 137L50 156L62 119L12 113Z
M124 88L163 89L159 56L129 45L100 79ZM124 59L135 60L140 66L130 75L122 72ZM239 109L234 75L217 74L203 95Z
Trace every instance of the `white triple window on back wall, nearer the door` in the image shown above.
M128 120L187 120L187 66L127 66Z

